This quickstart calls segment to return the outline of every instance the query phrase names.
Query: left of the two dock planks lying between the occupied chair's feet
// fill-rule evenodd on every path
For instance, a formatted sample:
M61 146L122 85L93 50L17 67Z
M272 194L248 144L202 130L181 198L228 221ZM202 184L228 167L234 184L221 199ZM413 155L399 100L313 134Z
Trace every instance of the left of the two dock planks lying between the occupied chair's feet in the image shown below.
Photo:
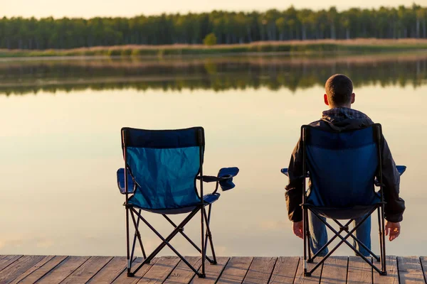
M331 256L323 263L322 279L320 283L341 284L347 281L347 256Z

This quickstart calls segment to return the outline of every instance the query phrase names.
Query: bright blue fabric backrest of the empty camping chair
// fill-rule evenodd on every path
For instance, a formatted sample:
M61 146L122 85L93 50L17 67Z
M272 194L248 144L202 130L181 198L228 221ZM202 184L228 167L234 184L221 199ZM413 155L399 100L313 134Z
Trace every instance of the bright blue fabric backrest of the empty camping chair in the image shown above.
M204 129L122 129L125 163L138 203L146 209L174 209L201 202L196 176L201 173Z

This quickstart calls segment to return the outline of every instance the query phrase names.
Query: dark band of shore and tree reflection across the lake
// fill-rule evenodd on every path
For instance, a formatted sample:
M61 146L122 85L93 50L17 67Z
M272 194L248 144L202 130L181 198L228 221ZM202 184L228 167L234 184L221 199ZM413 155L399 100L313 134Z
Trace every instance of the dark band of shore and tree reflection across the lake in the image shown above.
M366 85L426 84L427 55L343 58L240 57L187 60L56 60L0 63L0 94L77 90L259 89L322 86L335 72Z

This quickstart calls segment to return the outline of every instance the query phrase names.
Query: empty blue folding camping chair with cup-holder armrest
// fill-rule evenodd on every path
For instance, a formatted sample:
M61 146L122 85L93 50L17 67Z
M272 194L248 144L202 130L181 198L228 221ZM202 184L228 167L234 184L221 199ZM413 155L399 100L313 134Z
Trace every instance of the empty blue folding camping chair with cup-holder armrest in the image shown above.
M117 171L117 183L120 192L126 196L126 244L127 244L127 275L132 276L152 261L154 256L165 246L176 253L196 275L205 277L205 259L216 264L214 244L210 229L212 204L218 200L221 190L231 190L233 177L238 168L222 168L217 176L203 174L204 162L204 129L193 127L178 130L143 130L122 129L122 149L125 168ZM199 182L197 182L199 180ZM204 182L216 182L214 192L204 195ZM196 185L199 185L197 188ZM206 212L206 207L209 207ZM164 237L154 229L152 224L142 216L142 211L162 214L174 230ZM184 233L184 226L200 212L201 214L201 247L191 241ZM184 220L175 224L167 215L188 214ZM139 222L142 221L152 229L162 243L154 251L146 255L139 233ZM135 236L130 244L130 222L135 226ZM205 234L206 226L206 234ZM170 244L170 241L181 234L194 248L201 253L201 271L191 266L186 259ZM206 247L211 246L212 258L206 256ZM132 268L135 245L139 243L144 261Z

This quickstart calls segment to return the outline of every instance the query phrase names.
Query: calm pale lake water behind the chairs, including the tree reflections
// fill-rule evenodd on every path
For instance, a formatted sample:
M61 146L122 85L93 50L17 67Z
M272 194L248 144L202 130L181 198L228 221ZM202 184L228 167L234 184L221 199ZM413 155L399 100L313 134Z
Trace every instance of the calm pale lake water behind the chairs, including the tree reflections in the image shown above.
M115 181L123 165L120 128L204 126L205 173L241 169L236 188L214 206L218 254L301 255L279 170L288 165L300 125L325 110L323 82L344 72L356 86L354 108L383 125L396 163L408 166L402 234L387 242L387 252L427 255L426 62L423 55L1 62L0 253L125 255L124 197ZM165 234L171 229L163 218L149 219ZM186 232L199 239L197 225L194 219ZM142 234L148 249L159 244L145 227ZM374 230L372 239L376 246ZM173 243L196 253L179 236Z

